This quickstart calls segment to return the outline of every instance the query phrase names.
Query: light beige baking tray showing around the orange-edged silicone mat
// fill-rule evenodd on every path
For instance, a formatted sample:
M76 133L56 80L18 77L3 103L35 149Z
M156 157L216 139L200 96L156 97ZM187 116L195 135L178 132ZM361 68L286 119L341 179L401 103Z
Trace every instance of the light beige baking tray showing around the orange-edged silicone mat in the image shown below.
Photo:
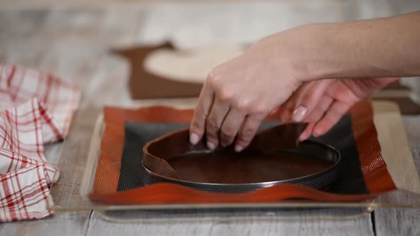
M97 119L86 160L85 171L80 183L80 196L86 204L56 205L52 210L75 211L97 210L105 220L117 222L166 222L201 220L348 220L370 213L374 208L401 207L420 208L420 181L409 150L398 107L389 102L374 102L374 122L382 156L387 162L399 191L358 203L211 203L211 204L153 204L153 205L100 205L91 203L88 195L93 190L95 171L100 156L100 141L104 131L103 115ZM397 145L389 134L398 136ZM394 141L395 144L395 141ZM395 155L397 154L397 155ZM394 155L394 156L393 156ZM404 171L400 171L404 168ZM54 188L54 186L52 187ZM199 211L199 212L197 212ZM257 220L258 220L257 219Z

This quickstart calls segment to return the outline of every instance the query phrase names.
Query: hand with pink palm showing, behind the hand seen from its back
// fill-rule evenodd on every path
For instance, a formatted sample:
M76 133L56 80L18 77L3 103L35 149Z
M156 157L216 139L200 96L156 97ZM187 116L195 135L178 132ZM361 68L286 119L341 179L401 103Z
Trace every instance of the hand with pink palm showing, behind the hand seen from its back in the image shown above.
M308 122L300 140L325 134L356 102L382 89L395 77L330 79L306 82L280 106L282 122Z

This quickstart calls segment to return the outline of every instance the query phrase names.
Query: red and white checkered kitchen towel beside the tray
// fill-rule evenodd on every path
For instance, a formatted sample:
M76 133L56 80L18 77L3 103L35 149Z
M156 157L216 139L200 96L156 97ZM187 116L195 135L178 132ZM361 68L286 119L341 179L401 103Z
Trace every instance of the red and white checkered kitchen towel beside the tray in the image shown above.
M51 215L59 171L43 144L63 139L80 91L48 73L0 65L0 222Z

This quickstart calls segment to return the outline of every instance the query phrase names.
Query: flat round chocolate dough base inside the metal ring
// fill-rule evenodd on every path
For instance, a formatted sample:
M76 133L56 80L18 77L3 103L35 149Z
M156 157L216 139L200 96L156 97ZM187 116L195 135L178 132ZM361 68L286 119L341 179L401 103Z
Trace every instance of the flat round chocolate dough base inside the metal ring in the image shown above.
M278 154L236 153L231 150L187 154L169 165L183 181L261 183L308 176L332 166L330 161L282 151Z

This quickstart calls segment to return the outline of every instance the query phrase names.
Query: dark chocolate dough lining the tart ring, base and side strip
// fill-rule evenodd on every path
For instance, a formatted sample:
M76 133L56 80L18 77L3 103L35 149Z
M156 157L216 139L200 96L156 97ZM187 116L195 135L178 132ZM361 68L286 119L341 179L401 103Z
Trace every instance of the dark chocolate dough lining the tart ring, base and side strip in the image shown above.
M184 176L191 181L197 178L212 181L210 183L223 183L219 182L220 180L227 183L256 183L261 180L278 181L292 174L302 177L330 166L325 161L311 161L308 157L302 156L299 157L300 160L297 160L293 158L293 156L296 157L295 155L285 153L285 149L298 146L298 137L307 125L305 123L283 124L258 132L251 144L241 153L233 151L233 146L218 147L215 151L211 151L206 149L204 139L199 144L191 145L189 144L189 130L183 129L149 141L143 148L142 161L146 168L160 176L184 181L187 179L184 179L171 163L175 163L183 171ZM177 161L172 162L172 159L177 159ZM297 171L299 165L305 166L305 161L309 161L310 167ZM291 165L284 168L288 163ZM182 164L187 166L182 168ZM280 168L281 166L283 168ZM197 169L194 170L194 168ZM226 168L231 170L231 173L226 173ZM203 172L203 169L209 172ZM246 169L252 173L248 175L248 178L238 176L237 173ZM216 178L216 173L219 171L224 171L224 173L221 178ZM194 177L195 174L197 174L196 177ZM229 179L229 176L232 178Z

